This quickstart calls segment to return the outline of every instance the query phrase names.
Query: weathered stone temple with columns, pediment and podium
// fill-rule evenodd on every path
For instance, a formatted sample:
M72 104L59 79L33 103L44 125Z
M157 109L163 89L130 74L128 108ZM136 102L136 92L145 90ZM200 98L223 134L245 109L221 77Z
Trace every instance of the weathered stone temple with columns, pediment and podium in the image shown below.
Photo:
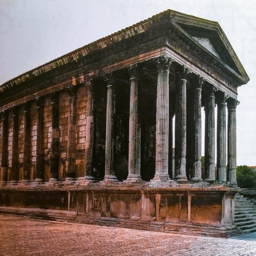
M248 80L217 22L167 10L2 84L0 211L236 233Z

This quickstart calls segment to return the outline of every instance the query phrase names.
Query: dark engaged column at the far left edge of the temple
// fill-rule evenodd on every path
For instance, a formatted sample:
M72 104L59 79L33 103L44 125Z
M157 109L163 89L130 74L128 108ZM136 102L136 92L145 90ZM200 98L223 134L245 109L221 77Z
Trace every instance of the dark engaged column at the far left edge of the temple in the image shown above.
M2 163L0 182L7 181L7 167L8 167L8 111L2 113Z

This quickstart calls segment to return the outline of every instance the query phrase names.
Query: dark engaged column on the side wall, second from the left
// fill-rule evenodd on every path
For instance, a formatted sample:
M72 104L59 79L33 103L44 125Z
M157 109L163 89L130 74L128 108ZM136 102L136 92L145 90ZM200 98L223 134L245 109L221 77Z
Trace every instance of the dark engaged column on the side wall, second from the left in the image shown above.
M17 108L12 108L13 126L12 126L12 168L11 168L11 183L16 183L18 180L18 113Z

